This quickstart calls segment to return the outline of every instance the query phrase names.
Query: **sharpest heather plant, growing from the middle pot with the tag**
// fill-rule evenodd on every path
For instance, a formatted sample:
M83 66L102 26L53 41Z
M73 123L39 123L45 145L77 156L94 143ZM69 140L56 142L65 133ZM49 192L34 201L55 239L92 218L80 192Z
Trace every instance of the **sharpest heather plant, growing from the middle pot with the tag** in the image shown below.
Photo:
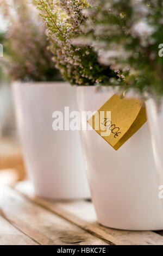
M90 7L86 0L36 0L47 35L51 42L53 60L62 76L71 84L90 86L109 83L116 77L109 66L98 63L91 45L76 46L73 38L82 34L85 22L83 9Z

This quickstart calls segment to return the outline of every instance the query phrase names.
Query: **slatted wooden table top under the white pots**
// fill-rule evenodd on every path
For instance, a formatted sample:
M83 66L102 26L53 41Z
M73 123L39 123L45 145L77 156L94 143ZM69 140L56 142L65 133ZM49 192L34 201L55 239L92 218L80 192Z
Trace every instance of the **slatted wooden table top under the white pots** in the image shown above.
M0 245L163 245L162 235L105 228L92 203L36 198L28 181L0 188Z

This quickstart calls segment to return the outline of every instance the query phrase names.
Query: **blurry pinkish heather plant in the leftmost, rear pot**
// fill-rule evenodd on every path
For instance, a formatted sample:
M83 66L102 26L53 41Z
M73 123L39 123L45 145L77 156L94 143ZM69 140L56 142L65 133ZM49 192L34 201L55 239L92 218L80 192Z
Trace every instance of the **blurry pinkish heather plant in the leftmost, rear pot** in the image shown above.
M1 61L8 76L22 81L60 80L34 4L30 0L0 0L0 8L8 23L3 40L7 53Z

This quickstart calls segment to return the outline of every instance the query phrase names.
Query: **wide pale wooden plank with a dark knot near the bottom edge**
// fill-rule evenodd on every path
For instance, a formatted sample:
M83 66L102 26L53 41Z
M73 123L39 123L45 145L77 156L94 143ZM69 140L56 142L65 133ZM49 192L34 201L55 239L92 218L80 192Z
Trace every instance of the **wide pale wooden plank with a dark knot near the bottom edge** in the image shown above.
M40 245L107 245L83 229L5 187L1 216Z

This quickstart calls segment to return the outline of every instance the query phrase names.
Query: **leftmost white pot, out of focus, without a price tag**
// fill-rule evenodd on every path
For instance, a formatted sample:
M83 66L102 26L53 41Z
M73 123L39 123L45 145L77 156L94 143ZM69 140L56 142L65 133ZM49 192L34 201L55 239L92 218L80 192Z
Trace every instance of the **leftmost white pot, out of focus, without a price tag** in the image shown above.
M54 199L89 198L79 131L54 131L54 111L77 109L76 89L66 83L12 85L18 129L35 193Z

